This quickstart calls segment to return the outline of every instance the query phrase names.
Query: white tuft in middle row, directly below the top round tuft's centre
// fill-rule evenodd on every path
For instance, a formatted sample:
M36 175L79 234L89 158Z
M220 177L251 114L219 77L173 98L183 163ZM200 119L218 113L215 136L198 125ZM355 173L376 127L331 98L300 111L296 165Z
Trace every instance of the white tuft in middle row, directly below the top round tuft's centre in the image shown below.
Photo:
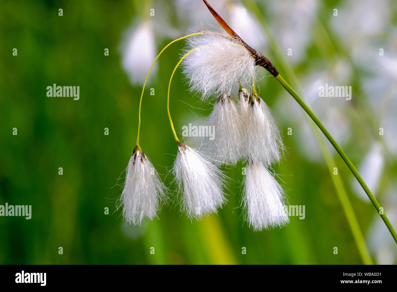
M236 164L241 158L239 149L243 142L243 127L234 100L225 94L218 97L203 126L213 127L214 135L203 137L202 147L214 156L215 161Z

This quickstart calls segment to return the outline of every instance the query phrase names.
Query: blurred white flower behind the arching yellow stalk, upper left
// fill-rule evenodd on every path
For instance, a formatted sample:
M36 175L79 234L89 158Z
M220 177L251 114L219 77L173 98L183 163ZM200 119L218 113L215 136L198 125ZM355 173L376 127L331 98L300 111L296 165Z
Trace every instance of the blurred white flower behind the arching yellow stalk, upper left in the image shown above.
M146 75L156 58L154 31L149 21L131 27L124 35L121 45L121 64L133 85L143 85ZM156 74L152 69L148 81Z

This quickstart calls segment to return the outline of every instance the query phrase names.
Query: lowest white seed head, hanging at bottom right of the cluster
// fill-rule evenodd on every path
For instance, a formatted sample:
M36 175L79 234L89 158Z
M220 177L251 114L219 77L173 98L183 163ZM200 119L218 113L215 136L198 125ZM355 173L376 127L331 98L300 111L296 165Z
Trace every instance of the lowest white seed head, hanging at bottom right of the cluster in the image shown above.
M246 220L254 230L281 227L289 222L283 190L263 164L249 159L244 180Z

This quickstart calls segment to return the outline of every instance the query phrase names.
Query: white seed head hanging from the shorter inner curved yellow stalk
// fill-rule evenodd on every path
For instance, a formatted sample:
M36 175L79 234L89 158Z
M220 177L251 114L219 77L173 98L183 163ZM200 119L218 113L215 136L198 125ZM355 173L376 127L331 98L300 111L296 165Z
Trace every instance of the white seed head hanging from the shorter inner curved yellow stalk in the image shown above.
M225 202L224 174L196 149L178 143L173 172L190 218L216 213Z

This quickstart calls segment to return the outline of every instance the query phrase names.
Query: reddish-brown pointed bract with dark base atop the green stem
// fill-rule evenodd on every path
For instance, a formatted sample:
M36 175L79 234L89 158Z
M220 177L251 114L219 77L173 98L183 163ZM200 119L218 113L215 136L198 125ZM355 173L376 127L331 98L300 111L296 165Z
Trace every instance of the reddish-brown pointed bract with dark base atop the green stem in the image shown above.
M204 4L207 6L208 10L210 10L211 14L214 15L216 21L218 21L218 23L223 27L223 29L227 31L229 35L238 39L243 44L243 46L250 52L250 54L255 58L255 65L265 68L274 77L276 77L278 75L278 71L273 66L272 62L270 62L269 59L266 58L264 55L262 55L260 52L249 46L247 43L245 43L245 41L243 41L243 39L241 39L241 37L239 37L239 35L237 35L237 33L235 33L233 29L229 27L229 25L227 25L227 23L223 20L223 18L220 17L220 15L214 10L214 8L212 8L211 5L208 4L206 0L203 1Z

